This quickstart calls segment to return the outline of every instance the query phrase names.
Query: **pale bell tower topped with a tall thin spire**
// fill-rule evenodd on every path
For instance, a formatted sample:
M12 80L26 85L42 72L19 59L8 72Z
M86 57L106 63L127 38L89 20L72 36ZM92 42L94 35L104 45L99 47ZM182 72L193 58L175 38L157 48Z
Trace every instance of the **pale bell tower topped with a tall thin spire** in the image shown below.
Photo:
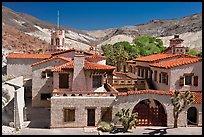
M60 30L59 26L59 11L57 16L57 29L51 31L51 43L49 51L56 51L58 49L63 49L65 41L65 31Z

